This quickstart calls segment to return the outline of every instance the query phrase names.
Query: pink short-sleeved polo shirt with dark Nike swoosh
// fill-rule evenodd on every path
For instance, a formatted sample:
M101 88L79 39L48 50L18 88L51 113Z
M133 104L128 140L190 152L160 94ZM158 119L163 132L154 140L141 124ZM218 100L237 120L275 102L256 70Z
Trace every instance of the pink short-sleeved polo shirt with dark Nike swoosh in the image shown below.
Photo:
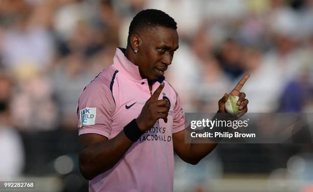
M159 99L170 101L167 123L159 119L133 143L110 170L90 181L90 191L172 191L174 156L172 134L185 129L180 98L170 84ZM160 86L155 82L154 92ZM105 68L81 93L78 100L79 135L94 133L111 139L139 116L150 98L147 79L118 48L113 65Z

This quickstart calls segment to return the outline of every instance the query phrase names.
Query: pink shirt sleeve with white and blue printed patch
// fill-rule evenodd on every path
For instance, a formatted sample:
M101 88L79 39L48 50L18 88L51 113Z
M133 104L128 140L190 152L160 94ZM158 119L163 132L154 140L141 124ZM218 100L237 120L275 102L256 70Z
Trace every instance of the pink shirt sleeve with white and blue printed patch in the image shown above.
M95 133L109 138L114 111L110 89L100 82L92 82L78 99L78 135Z

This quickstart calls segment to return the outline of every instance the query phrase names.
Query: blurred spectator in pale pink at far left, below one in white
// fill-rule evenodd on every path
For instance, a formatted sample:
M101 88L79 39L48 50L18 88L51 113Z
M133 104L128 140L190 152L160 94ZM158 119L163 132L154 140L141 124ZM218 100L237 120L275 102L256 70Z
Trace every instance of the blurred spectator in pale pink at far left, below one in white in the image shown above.
M58 125L57 108L52 99L49 79L38 73L30 73L18 79L17 94L12 97L12 119L20 130L51 130Z

